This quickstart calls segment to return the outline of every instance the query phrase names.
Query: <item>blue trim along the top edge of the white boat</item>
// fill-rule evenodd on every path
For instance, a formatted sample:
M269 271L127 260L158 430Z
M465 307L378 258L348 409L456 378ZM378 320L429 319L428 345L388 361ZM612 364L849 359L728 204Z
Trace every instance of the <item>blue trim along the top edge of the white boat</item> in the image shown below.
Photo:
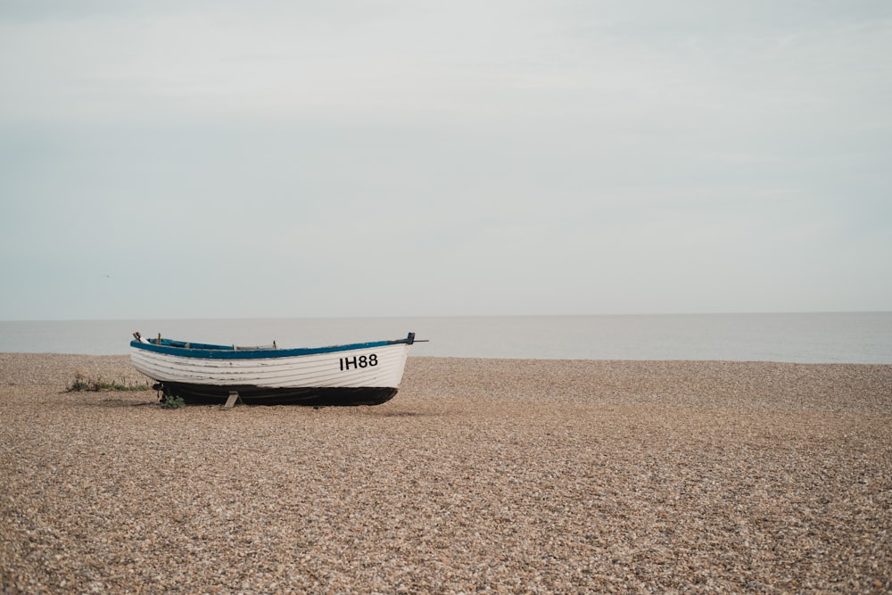
M244 348L238 349L232 345L212 345L210 343L188 343L172 339L161 339L160 343L151 340L150 343L131 341L130 347L145 351L154 351L174 355L180 358L196 359L271 359L293 358L301 355L316 355L319 353L336 353L338 351L357 351L360 349L374 349L388 345L415 343L415 333L409 333L405 339L394 341L373 341L369 343L351 343L349 345L331 345L329 347L276 349L276 348Z

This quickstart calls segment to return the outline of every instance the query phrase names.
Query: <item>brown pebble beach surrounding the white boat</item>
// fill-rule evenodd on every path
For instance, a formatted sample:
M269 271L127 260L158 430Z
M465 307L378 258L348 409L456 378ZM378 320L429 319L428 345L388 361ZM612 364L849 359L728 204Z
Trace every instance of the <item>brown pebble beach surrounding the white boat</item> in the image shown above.
M373 408L161 409L0 353L18 592L889 592L892 366L410 358Z

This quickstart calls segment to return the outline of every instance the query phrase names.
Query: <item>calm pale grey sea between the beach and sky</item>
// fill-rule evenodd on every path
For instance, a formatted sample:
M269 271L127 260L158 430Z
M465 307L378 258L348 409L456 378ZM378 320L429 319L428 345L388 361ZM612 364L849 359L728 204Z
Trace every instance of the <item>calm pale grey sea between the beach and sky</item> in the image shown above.
M413 356L892 364L892 312L0 321L0 351L114 355L131 334L318 347L418 339Z

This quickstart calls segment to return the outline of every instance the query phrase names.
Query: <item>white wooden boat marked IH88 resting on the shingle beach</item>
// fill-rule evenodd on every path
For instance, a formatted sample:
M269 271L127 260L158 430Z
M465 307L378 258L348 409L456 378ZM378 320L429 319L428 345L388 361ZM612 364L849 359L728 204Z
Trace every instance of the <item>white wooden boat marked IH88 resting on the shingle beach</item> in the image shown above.
M400 387L415 333L405 339L313 349L188 343L134 333L130 359L165 396L188 402L377 405Z

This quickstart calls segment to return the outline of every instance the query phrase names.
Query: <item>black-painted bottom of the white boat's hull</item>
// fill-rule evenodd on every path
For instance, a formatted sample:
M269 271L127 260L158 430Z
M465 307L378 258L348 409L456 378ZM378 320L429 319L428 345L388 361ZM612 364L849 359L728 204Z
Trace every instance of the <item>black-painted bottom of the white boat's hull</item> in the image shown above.
M218 404L231 391L248 405L307 405L312 407L354 407L380 405L390 401L397 389L362 388L264 388L262 386L214 386L211 384L159 383L155 388L190 404Z

